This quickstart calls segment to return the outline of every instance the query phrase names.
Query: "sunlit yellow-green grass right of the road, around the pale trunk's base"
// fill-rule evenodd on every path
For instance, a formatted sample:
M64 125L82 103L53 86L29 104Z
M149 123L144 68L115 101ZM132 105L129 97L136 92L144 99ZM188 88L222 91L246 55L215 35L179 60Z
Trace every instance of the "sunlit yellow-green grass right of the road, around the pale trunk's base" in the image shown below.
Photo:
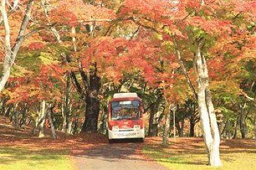
M222 167L214 168L207 166L207 155L202 153L182 153L164 150L163 148L152 148L144 146L143 153L157 160L169 169L255 169L256 152L252 150L225 150L221 152Z

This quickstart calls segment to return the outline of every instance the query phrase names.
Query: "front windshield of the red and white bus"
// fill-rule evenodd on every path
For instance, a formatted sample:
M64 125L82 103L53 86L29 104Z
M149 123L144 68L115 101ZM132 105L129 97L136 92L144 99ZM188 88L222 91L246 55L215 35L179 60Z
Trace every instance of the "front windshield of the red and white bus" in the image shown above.
M138 100L111 102L111 120L138 119L139 106Z

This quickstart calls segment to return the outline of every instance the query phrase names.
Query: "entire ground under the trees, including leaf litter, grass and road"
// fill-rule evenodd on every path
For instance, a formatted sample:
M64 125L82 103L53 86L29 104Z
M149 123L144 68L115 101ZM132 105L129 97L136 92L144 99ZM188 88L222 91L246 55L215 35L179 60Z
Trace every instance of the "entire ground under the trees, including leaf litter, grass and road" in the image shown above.
M57 132L54 140L50 129L45 129L44 138L31 131L31 127L15 130L0 116L0 169L210 169L202 139L170 139L169 147L163 148L161 137L148 137L143 144L134 140L108 144L101 134ZM221 169L255 169L255 141L222 140L221 160Z

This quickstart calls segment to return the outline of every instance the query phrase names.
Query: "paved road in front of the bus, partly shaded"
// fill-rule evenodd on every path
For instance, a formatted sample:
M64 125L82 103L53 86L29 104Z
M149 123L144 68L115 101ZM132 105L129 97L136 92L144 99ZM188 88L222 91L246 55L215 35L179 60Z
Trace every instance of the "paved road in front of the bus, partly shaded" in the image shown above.
M77 169L159 169L165 167L148 160L140 151L140 143L101 144L83 155L74 157Z

